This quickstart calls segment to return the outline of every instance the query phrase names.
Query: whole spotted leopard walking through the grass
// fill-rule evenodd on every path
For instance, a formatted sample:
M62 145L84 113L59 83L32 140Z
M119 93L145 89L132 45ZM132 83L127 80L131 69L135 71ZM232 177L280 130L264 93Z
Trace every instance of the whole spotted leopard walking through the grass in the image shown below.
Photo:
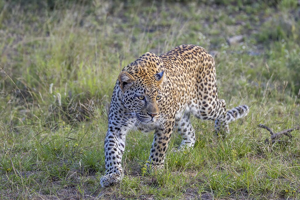
M182 135L178 150L195 145L193 115L214 121L217 133L229 133L229 123L246 116L249 106L226 110L217 92L214 58L197 45L180 45L161 55L146 52L119 73L108 112L104 139L105 174L102 187L121 182L122 155L128 132L154 130L146 162L150 170L164 167L173 130Z

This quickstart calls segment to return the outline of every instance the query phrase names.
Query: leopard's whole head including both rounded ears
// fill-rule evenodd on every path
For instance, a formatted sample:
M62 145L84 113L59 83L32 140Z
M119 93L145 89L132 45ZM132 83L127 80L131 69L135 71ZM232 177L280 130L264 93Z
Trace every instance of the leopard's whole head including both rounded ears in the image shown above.
M134 77L121 72L119 86L122 90L122 103L137 124L153 124L161 117L159 107L164 99L160 85L164 71L157 74L135 73Z

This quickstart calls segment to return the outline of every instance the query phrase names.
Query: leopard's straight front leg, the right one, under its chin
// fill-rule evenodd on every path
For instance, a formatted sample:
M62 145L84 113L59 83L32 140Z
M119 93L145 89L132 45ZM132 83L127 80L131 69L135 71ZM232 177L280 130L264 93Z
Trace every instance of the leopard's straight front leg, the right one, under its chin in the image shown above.
M164 167L166 151L174 128L175 119L163 121L155 129L150 156L146 164L148 169L150 169L150 166L154 170Z

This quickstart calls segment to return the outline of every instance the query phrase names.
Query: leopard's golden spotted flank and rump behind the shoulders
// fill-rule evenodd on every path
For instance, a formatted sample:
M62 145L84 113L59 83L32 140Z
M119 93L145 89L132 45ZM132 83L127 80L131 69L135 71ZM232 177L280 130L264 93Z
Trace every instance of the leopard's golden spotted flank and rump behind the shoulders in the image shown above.
M173 85L174 103L181 105L179 115L183 108L204 119L216 118L214 112L224 112L223 105L218 106L214 59L204 48L180 45L159 57L164 63L169 84Z

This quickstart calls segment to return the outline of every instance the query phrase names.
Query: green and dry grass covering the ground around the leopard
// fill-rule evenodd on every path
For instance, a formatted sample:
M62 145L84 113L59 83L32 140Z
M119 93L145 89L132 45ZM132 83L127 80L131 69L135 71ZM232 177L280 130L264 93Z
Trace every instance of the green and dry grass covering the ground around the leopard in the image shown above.
M298 1L0 1L1 199L299 199ZM230 37L243 40L228 44ZM107 109L122 67L193 43L214 55L219 96L250 107L147 174L153 134L127 137L120 185L101 188ZM287 139L287 138L286 138Z

